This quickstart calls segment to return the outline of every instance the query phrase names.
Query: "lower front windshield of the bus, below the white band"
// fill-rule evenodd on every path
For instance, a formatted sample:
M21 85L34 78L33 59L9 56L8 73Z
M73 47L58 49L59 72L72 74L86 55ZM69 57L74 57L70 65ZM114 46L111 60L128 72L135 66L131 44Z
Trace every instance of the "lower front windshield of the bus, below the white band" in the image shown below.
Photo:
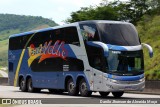
M144 71L143 52L109 51L106 58L108 73L114 75L139 75Z

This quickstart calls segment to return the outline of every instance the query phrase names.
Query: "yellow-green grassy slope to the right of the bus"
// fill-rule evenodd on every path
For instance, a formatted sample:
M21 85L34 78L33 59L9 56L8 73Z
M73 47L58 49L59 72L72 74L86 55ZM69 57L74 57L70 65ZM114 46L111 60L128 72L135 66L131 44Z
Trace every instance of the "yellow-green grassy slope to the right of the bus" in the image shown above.
M160 80L160 16L144 16L137 26L141 42L153 47L154 57L149 58L144 49L145 71L147 79Z

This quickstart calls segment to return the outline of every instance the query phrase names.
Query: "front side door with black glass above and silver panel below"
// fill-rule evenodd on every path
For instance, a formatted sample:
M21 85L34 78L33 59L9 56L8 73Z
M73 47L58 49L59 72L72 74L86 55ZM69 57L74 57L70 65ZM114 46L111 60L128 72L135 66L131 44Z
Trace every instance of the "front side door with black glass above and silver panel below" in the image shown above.
M92 67L93 90L99 90L103 80L103 50L99 47L87 46L89 65Z

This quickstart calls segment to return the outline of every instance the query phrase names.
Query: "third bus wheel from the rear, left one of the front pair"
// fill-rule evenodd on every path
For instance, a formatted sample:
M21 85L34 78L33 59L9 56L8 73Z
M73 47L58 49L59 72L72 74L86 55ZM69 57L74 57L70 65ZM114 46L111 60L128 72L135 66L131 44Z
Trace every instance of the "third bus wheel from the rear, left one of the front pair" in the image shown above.
M69 95L76 96L78 95L78 90L73 82L73 79L69 79L67 82L67 91Z

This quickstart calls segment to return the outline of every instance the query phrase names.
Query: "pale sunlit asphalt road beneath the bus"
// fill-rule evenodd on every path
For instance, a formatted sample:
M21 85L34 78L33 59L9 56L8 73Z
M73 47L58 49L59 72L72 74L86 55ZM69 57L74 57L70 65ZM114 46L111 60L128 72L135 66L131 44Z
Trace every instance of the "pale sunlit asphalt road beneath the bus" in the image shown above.
M94 104L95 101L110 101L110 100L115 100L118 101L119 99L115 99L112 94L110 93L108 97L106 98L101 98L98 93L93 93L91 97L81 97L81 96L69 96L67 93L63 94L52 94L49 93L48 90L42 90L41 93L28 93L28 92L21 92L18 87L12 87L12 86L0 86L0 98L61 98L62 102L67 101L69 98L72 98L71 100L74 102L79 101L89 101L93 102L90 104L42 104L42 105L36 105L38 107L160 107L160 104ZM64 98L64 99L62 99ZM77 98L80 98L77 100ZM125 100L130 100L133 101L133 98L137 98L140 101L143 100L144 98L158 98L160 99L160 95L147 95L147 94L131 94L131 93L125 93L123 97L121 98L122 101ZM141 99L142 98L142 99ZM28 107L31 105L11 105L13 106L18 106L18 107ZM35 105L34 105L35 106ZM0 106L1 107L1 106Z

